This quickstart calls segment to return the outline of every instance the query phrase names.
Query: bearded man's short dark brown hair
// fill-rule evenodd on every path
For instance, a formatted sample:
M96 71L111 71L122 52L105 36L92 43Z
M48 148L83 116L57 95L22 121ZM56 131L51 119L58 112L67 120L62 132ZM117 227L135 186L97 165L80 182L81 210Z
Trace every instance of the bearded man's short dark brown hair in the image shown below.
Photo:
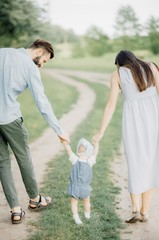
M51 54L50 59L54 57L54 50L53 50L51 43L49 43L43 39L35 40L28 48L33 48L33 49L43 48L48 53Z

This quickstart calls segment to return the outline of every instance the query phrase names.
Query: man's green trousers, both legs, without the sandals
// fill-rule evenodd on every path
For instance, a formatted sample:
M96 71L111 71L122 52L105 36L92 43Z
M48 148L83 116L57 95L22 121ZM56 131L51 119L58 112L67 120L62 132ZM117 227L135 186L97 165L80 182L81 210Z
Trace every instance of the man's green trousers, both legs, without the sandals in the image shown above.
M28 146L28 132L23 125L23 119L0 125L0 180L10 208L20 206L13 175L8 146L11 147L17 160L23 183L29 198L38 195L32 159Z

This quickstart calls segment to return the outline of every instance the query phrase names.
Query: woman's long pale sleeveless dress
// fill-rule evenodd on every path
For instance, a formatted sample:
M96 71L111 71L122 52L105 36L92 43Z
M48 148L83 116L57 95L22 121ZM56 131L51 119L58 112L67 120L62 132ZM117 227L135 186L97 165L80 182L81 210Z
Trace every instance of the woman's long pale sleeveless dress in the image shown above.
M139 92L128 68L120 67L119 74L128 190L140 194L159 188L159 96L155 87Z

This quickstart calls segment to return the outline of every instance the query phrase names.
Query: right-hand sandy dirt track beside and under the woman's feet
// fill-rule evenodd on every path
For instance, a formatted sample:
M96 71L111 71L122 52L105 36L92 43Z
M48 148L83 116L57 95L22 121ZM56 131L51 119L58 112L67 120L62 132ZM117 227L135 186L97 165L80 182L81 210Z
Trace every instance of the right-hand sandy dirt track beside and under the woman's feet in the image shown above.
M117 196L117 214L123 220L129 219L131 212L130 198L127 190L127 164L123 146L112 162L112 179L121 188ZM156 191L151 203L149 221L147 223L126 224L121 231L121 240L159 240L159 191Z

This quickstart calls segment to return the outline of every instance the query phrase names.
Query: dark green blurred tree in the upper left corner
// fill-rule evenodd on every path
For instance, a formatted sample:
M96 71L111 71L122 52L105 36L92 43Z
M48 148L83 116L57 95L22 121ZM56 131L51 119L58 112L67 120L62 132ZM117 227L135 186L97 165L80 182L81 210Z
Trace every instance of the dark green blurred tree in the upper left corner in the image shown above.
M30 0L0 1L0 36L3 46L39 31L40 9Z

